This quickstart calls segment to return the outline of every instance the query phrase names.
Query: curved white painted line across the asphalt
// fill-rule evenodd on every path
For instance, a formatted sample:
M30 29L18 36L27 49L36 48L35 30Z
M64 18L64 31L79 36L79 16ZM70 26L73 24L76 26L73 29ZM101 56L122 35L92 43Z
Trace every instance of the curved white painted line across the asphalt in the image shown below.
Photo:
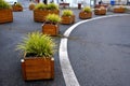
M107 18L107 17L123 16L123 15L129 15L129 14L114 14L114 15L106 15L106 16L101 16L101 17L94 17L94 18L87 19L87 20L81 20L81 22L73 25L72 27L69 27L64 32L64 35L69 37L70 32L82 23L101 19L101 18ZM73 70L73 67L70 64L69 58L68 58L67 41L68 41L67 38L61 39L60 49L58 49L60 63L61 63L61 69L63 72L64 81L65 81L66 86L80 86L80 84L75 75L75 72Z

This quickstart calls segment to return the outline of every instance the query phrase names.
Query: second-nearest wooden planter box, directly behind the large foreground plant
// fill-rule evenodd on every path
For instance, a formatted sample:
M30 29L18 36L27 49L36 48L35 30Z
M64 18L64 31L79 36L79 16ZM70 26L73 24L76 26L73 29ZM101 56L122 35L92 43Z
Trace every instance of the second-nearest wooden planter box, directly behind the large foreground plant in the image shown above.
M42 25L42 33L49 34L49 35L57 35L58 34L58 25L44 23Z

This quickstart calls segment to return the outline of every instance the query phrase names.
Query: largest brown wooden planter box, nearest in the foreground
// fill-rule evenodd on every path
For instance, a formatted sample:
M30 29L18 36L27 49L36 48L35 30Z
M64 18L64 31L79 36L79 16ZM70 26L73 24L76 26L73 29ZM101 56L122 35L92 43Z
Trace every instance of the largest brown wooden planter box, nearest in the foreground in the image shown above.
M25 57L22 59L22 73L25 81L54 78L54 59Z

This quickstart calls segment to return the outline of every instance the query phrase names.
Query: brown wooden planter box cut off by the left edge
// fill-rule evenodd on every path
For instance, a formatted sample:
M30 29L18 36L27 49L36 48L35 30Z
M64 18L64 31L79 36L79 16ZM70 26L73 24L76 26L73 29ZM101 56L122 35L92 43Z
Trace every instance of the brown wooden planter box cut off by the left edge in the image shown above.
M13 12L11 9L0 9L0 24L13 22Z

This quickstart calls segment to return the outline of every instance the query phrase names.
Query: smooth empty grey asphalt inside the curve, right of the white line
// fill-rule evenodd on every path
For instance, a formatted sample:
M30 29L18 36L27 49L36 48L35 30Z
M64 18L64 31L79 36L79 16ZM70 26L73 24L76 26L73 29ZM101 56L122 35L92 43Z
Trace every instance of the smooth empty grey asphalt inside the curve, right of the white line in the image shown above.
M91 20L68 40L70 63L81 86L130 86L130 15Z

